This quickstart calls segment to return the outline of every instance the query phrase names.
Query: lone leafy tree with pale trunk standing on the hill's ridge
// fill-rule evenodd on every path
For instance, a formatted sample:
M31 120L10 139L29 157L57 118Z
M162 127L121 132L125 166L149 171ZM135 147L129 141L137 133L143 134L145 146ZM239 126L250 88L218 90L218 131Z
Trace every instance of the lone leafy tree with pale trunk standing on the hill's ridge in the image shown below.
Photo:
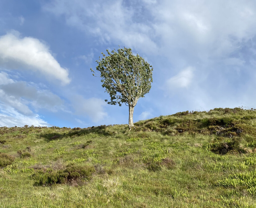
M129 106L129 129L134 127L133 111L138 99L143 98L151 89L153 67L138 54L132 54L131 48L114 49L111 52L106 50L108 55L103 53L103 58L97 60L96 70L100 74L102 87L110 95L108 104L119 106L125 103ZM92 72L94 72L91 69ZM95 72L94 72L95 73ZM94 74L92 74L95 76Z

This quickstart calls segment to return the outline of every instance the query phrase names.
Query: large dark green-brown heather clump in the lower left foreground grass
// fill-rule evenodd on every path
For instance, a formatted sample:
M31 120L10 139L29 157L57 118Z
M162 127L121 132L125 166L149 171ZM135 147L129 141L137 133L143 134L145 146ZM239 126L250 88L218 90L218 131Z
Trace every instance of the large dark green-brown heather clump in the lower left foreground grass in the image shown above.
M92 166L70 164L63 170L37 170L32 174L32 179L37 185L62 184L82 179L88 180L93 172L95 169Z

